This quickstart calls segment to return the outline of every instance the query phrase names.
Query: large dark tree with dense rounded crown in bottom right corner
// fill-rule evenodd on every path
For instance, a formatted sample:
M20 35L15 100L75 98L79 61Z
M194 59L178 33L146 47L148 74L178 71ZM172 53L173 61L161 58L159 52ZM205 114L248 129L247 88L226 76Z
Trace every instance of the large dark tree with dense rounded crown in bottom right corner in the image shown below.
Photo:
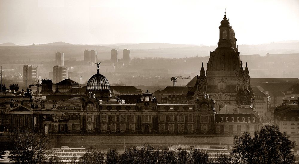
M290 141L286 132L280 132L274 125L266 125L254 136L244 133L234 137L231 154L237 163L295 163L291 150L295 142Z

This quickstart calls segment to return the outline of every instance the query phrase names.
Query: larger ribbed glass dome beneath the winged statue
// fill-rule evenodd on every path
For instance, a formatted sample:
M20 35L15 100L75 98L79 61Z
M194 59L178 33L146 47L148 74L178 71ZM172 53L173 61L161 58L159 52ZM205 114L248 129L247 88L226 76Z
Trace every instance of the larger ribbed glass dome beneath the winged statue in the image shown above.
M107 78L97 72L87 82L86 90L110 90L110 85Z

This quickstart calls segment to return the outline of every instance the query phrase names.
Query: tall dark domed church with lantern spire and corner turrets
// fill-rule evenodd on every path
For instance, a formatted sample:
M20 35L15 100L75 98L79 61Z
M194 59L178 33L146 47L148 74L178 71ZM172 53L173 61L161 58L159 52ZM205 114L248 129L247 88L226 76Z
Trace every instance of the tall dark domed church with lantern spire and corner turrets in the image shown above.
M243 69L236 42L234 30L225 13L219 27L218 47L210 52L206 71L202 63L196 84L188 92L189 99L203 92L208 93L216 101L216 111L221 110L225 104L252 105L253 92L247 63Z

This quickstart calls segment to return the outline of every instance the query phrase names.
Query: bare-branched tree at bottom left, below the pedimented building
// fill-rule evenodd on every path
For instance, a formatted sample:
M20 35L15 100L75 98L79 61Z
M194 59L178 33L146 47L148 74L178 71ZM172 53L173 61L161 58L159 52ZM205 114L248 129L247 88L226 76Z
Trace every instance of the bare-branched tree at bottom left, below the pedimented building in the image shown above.
M9 135L11 161L16 163L45 163L50 150L50 137L32 133L31 129L18 128Z

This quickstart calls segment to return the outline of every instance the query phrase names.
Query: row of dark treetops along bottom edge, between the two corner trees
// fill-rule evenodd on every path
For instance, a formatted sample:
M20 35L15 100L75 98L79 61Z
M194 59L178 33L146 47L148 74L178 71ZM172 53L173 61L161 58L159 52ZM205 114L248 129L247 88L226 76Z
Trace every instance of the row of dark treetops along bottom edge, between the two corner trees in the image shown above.
M127 149L122 154L115 149L110 149L106 153L89 149L79 160L79 164L196 164L196 163L231 163L229 154L216 154L215 158L209 158L209 154L197 149L192 151L159 151L152 145L143 145L140 149Z

